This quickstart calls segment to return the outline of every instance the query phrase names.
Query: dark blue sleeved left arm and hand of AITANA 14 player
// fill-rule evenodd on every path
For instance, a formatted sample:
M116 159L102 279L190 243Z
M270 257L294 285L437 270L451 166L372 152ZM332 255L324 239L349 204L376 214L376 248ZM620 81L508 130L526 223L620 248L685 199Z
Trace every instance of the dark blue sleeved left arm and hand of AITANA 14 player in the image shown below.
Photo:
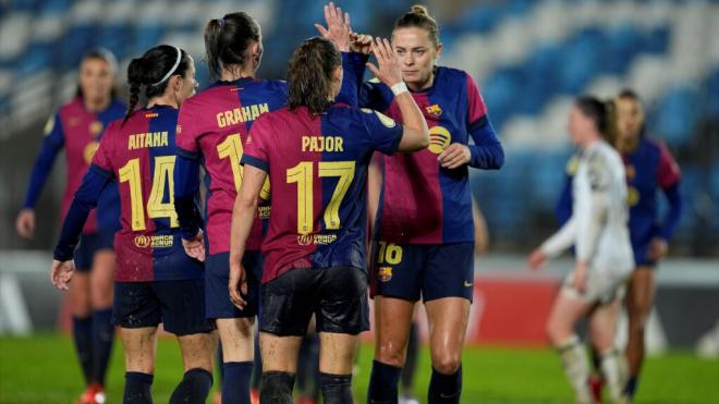
M50 279L61 290L66 290L72 280L74 265L72 264L75 247L83 232L90 210L97 207L97 201L105 187L112 181L112 173L93 164L83 177L80 188L70 205L65 220L62 223L60 241L52 253Z

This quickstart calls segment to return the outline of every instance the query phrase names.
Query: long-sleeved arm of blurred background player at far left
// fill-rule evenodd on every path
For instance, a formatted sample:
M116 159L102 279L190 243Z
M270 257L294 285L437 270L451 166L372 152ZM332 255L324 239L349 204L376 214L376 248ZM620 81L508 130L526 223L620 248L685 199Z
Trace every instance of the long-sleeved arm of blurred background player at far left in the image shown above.
M50 175L52 163L63 145L62 123L60 117L56 114L46 124L40 152L33 164L33 172L25 193L25 201L15 222L17 234L21 237L31 238L35 233L35 205L40 197L45 182Z

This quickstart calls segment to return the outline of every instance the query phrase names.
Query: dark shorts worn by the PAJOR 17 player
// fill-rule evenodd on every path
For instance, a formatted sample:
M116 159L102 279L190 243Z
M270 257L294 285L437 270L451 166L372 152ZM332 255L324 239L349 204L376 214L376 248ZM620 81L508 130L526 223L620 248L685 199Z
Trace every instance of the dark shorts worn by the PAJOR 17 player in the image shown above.
M291 269L263 285L259 330L304 336L312 315L317 332L356 335L369 330L367 271L354 267Z

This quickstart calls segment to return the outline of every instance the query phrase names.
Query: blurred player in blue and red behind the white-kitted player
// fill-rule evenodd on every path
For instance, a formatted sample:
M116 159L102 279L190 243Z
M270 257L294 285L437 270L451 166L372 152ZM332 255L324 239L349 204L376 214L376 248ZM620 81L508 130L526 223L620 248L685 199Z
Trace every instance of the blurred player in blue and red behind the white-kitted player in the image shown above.
M630 204L630 234L634 249L635 269L632 272L624 304L629 315L626 359L629 381L625 393L635 394L644 360L644 328L655 295L654 270L668 250L682 212L679 192L680 170L667 147L646 135L644 108L632 90L621 91L614 99L614 147L622 155L626 171ZM557 207L560 221L572 212L571 182L575 164L568 164L568 181ZM669 210L659 221L657 194L661 189Z

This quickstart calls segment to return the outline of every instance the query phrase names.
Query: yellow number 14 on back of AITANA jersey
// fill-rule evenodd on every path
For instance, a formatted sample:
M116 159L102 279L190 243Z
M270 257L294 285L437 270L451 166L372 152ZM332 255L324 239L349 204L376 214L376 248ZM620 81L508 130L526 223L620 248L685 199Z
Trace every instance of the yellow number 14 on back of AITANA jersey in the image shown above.
M174 159L175 156L155 157L153 189L147 200L147 216L150 219L169 218L170 227L176 228L178 213L174 211ZM146 230L145 207L143 206L143 187L139 170L139 159L132 159L118 170L120 183L130 183L130 205L132 211L132 230ZM162 203L164 189L170 193L170 201Z

